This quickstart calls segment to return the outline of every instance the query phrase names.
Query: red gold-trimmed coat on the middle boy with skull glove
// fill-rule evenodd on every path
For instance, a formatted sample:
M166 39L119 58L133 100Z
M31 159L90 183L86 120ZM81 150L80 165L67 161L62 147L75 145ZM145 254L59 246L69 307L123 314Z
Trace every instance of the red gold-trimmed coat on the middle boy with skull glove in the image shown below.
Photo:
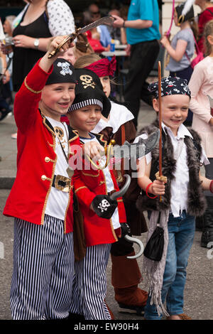
M102 146L107 145L107 141L102 140L102 135L94 134L99 140ZM80 210L84 219L84 235L86 240L86 246L94 246L95 244L110 244L116 242L118 239L114 232L111 219L101 218L93 210L90 209L92 200L96 195L107 194L107 184L104 176L104 172L99 169L87 166L87 169L82 170L75 169L72 181L75 188L75 193L80 203ZM86 162L87 163L87 162ZM114 183L114 189L119 190L119 186L116 183L114 173L110 170L111 178ZM122 198L117 199L119 210L119 222L126 222L126 212Z

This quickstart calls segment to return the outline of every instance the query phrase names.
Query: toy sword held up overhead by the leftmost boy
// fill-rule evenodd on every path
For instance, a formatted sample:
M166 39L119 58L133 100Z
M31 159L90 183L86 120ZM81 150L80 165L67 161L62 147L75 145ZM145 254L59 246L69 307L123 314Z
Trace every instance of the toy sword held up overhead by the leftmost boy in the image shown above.
M84 26L83 28L78 28L75 33L70 33L70 35L67 35L67 37L58 45L58 48L56 48L55 50L53 50L49 55L48 58L52 58L53 55L55 55L56 53L58 53L58 51L60 50L60 48L62 48L62 46L67 43L68 41L72 42L75 40L75 38L80 35L80 33L85 33L86 31L92 29L92 28L96 28L97 26L101 26L101 25L107 25L107 26L111 26L112 23L114 22L115 18L113 16L104 16L102 18L99 18L99 20L94 21L92 23L89 23L87 26Z

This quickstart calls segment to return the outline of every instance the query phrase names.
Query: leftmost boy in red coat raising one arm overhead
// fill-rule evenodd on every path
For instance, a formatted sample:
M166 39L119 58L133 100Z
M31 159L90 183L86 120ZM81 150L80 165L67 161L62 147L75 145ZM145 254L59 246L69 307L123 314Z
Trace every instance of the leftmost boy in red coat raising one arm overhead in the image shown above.
M75 98L75 70L55 38L26 76L14 101L18 126L16 180L4 215L15 217L11 313L15 320L69 315L74 272L72 187L67 159L80 145L60 122ZM60 49L62 55L70 45Z

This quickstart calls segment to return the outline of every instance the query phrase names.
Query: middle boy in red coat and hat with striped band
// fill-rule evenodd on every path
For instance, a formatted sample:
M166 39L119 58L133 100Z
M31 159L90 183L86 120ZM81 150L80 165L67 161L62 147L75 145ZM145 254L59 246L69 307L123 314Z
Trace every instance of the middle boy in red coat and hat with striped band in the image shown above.
M103 136L91 131L102 114L108 117L111 103L94 72L76 69L75 73L75 100L67 114L70 124L77 129L82 144L97 141L105 147L107 141L103 140ZM86 320L107 320L111 319L104 301L107 294L107 262L111 244L121 236L120 227L126 222L126 213L122 198L110 200L109 193L119 190L113 171L108 166L102 166L102 162L97 168L88 166L86 160L83 163L82 171L75 170L73 185L84 218L87 250L84 259L75 262L76 281L70 311L83 314Z

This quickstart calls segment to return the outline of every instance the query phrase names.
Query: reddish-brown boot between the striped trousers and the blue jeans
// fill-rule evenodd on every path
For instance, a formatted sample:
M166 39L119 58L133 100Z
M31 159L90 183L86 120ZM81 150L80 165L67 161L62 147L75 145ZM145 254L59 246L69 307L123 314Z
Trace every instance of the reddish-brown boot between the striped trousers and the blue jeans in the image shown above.
M146 305L148 293L138 288L142 276L137 260L126 258L134 254L132 252L119 257L111 255L111 284L114 286L119 311L141 315Z

